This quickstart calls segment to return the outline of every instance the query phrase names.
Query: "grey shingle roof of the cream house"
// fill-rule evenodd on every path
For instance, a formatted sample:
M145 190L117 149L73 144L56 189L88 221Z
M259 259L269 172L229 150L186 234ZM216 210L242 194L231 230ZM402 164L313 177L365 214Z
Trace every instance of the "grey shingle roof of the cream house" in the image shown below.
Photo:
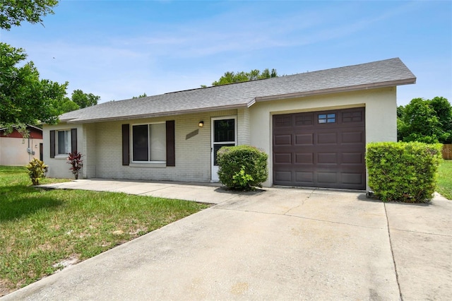
M104 102L62 114L60 120L61 122L87 123L206 112L250 107L258 101L390 87L415 82L416 77L410 69L400 59L394 58L291 76Z

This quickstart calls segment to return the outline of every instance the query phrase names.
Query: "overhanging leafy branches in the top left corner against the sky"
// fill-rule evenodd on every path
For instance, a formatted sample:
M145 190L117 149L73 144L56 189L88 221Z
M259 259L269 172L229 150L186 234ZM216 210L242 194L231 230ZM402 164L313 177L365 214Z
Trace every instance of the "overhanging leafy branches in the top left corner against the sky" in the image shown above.
M53 14L57 4L57 0L1 0L0 28L10 30L23 21L42 24L42 17Z

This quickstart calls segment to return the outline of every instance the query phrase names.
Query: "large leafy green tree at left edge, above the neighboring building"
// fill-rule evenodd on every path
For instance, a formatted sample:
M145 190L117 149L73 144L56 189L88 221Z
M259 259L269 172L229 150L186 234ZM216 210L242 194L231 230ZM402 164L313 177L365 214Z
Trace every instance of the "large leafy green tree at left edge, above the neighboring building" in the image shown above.
M68 83L40 79L32 61L23 63L26 57L23 49L0 42L1 126L58 120L58 104L65 98Z

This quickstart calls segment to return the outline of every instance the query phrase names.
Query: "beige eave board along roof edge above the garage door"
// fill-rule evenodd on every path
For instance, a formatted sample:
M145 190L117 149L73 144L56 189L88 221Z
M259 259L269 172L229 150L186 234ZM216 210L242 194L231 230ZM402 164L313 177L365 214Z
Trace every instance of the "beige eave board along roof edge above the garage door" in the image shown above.
M280 100L280 99L288 99L288 98L303 98L311 95L321 95L321 94L331 94L331 93L340 93L340 92L351 92L357 90L369 90L376 88L388 88L394 87L396 85L410 85L412 83L416 83L416 78L407 78L398 81L385 81L382 83L367 83L364 85L351 85L347 87L339 87L339 88L331 88L331 89L323 89L323 90L312 90L305 92L297 92L297 93L288 93L288 94L280 94L280 95L269 95L255 98L253 101L249 102L248 107L254 105L256 102L268 101L268 100Z

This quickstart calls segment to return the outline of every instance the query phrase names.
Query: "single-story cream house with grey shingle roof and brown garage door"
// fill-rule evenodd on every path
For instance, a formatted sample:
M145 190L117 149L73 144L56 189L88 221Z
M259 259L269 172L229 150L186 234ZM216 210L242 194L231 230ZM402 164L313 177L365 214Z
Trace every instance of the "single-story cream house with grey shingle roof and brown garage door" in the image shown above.
M416 78L400 59L105 102L44 125L49 177L218 181L216 151L269 155L264 186L367 189L365 144L396 141L396 86Z

